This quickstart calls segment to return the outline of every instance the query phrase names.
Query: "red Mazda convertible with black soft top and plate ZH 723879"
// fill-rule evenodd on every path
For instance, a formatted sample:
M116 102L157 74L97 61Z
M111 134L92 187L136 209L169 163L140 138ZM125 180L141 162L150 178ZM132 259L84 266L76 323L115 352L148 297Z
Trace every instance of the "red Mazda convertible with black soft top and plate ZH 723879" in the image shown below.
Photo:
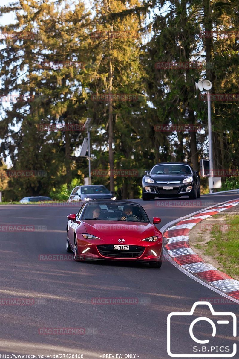
M130 201L92 200L67 216L67 252L80 261L117 260L162 265L162 233L142 206Z

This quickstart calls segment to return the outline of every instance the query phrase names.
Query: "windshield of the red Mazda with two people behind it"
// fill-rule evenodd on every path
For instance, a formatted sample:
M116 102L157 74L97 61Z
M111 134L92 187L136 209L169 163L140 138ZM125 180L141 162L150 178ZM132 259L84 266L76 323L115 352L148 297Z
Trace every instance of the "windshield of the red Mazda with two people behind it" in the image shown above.
M87 204L83 210L82 220L105 220L128 222L146 222L149 220L145 211L137 205L127 204Z

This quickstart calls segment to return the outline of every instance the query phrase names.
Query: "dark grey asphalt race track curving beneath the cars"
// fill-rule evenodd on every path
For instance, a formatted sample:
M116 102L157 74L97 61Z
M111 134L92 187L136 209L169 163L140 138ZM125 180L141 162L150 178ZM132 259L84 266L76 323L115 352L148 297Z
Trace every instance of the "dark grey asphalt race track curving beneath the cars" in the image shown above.
M186 197L135 201L144 206L150 219L162 218L160 228L206 206L238 197L239 192L207 195L186 206L183 205L188 201ZM137 263L39 260L40 255L66 254L66 216L76 212L76 208L67 206L0 206L1 225L43 226L38 227L43 230L33 232L0 232L0 298L34 299L33 305L24 306L3 305L1 301L0 354L62 354L62 358L67 358L67 354L83 354L83 358L117 358L109 354L122 354L123 358L125 355L142 359L169 358L168 314L190 311L193 303L201 298L219 298L220 295L190 279L169 262L164 262L158 270ZM92 298L99 297L144 298L146 304L92 304ZM239 314L238 304L216 305L215 310ZM206 313L204 308L199 311L202 313ZM84 328L84 334L41 334L42 328ZM176 320L172 330L175 331L172 334L175 353L191 350L187 324ZM211 327L208 323L198 324L195 332L205 340ZM225 333L219 334L215 341L219 346L233 342L229 326Z

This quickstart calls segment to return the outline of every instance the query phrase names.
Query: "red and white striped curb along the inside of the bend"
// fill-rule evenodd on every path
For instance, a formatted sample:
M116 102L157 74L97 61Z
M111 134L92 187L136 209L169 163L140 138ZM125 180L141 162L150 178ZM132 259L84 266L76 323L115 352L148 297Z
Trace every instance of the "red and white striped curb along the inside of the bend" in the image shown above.
M164 230L163 254L172 264L183 272L188 272L189 276L196 276L196 280L200 283L210 285L215 292L224 297L230 297L239 304L239 281L206 263L189 245L189 232L197 223L237 205L239 205L239 198L201 210L187 216L188 218L184 217L171 222L171 224L174 223L172 227L167 227L167 225L161 230Z

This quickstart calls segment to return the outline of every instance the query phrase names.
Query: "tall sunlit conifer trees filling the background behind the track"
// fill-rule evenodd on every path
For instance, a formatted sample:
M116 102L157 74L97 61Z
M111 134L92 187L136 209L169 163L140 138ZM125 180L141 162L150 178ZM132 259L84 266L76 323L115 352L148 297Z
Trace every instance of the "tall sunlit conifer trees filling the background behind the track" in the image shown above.
M198 169L199 159L207 156L207 108L195 78L210 79L213 93L238 93L239 39L200 35L205 29L238 32L238 2L215 0L210 9L208 2L196 0L92 4L91 12L83 1L19 0L0 7L0 15L15 17L0 26L9 34L0 39L0 96L21 95L8 107L1 102L0 156L9 156L14 169L47 172L47 177L1 184L5 201L30 195L66 200L77 179L83 183L88 163L78 151L86 132L51 126L83 125L87 118L94 125L92 171L108 170L109 155L118 171L141 173L171 160ZM195 61L210 62L212 69L156 68L157 62ZM93 101L93 94L109 92L139 98ZM214 168L238 168L238 102L212 102L212 123ZM155 126L162 124L197 124L202 130L159 132ZM141 178L115 176L118 197L140 196ZM92 181L110 185L109 176L92 176ZM206 193L207 182L202 185ZM238 188L238 180L226 179L223 189L232 188Z

